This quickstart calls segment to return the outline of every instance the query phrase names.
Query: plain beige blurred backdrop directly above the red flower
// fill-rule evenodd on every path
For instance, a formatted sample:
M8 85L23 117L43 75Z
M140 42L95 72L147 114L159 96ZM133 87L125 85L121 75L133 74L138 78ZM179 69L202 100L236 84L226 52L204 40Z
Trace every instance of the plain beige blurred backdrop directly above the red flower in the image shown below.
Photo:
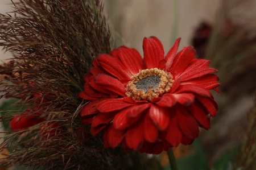
M168 52L181 37L180 48L191 44L202 21L213 23L220 0L105 0L105 16L115 32L116 45L125 43L142 54L144 37L156 36Z

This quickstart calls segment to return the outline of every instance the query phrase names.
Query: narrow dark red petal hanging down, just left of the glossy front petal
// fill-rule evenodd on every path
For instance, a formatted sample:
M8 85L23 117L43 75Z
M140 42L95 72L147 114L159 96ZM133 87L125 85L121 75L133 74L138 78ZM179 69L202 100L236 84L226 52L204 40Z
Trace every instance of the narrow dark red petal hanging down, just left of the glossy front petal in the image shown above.
M158 139L158 128L152 122L148 113L144 118L144 138L148 142L155 142Z

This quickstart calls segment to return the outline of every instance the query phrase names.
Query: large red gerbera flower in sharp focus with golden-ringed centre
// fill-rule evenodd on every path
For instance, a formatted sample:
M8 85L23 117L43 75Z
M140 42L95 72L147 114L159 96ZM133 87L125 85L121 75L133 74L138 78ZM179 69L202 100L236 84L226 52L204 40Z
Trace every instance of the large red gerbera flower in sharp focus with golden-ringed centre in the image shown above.
M177 52L180 39L164 57L162 43L144 38L142 59L125 46L93 60L79 97L90 100L81 111L91 132L102 129L106 147L121 146L160 154L180 143L191 144L199 127L210 128L218 109L209 90L218 91L210 61L195 58L192 46Z

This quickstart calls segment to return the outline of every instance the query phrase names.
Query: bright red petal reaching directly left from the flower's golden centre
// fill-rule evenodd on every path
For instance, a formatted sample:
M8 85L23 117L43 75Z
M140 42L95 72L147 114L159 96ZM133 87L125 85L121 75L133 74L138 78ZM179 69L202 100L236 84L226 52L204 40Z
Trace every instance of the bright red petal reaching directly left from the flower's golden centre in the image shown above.
M94 83L98 86L101 86L102 89L104 88L110 90L111 92L115 92L120 96L126 96L125 86L123 86L123 84L119 80L111 76L108 76L106 74L97 74L95 76Z

